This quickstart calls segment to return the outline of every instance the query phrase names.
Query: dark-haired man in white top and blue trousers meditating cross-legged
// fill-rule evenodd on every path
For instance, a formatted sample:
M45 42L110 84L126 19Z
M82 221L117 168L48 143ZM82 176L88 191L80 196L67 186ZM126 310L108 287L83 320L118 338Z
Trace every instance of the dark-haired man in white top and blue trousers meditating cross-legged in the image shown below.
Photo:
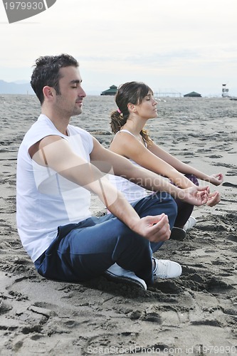
M38 273L60 281L83 282L105 273L146 289L154 278L180 276L179 263L152 257L169 239L177 214L170 194L201 205L209 188L179 189L69 125L85 98L78 66L65 54L36 60L31 86L41 115L23 138L17 163L16 219L23 247ZM157 193L131 206L106 178L112 171ZM112 214L91 216L90 192Z

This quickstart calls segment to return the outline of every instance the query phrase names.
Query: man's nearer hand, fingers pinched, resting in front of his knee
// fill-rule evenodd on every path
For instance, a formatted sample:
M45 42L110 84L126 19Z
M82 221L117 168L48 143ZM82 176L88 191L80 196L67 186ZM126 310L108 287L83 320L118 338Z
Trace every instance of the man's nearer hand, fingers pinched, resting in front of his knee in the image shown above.
M133 230L150 242L166 241L171 233L166 214L145 216L137 222Z

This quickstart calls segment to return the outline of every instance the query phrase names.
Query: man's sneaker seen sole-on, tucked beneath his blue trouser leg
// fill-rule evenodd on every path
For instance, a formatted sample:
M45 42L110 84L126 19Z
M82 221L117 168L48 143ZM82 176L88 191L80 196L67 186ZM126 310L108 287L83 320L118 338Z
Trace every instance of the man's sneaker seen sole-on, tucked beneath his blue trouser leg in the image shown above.
M137 277L134 272L127 271L118 266L117 263L110 266L110 268L105 271L105 275L117 281L135 283L137 286L147 290L147 284L142 278Z

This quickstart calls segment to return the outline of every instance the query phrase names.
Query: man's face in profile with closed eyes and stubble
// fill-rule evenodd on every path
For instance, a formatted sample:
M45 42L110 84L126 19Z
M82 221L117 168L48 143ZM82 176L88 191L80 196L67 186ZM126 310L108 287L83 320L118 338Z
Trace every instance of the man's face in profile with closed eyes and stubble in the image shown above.
M80 115L86 94L81 86L79 69L70 66L60 68L60 95L56 95L55 109L63 116Z

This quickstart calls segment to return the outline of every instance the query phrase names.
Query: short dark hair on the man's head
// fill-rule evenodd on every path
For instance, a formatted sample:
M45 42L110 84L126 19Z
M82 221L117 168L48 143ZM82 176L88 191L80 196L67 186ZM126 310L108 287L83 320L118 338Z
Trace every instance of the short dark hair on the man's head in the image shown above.
M43 56L36 59L36 65L31 75L31 87L41 105L44 100L43 87L46 85L54 88L57 95L60 95L59 70L68 66L78 67L79 63L73 56L64 53L59 56Z

